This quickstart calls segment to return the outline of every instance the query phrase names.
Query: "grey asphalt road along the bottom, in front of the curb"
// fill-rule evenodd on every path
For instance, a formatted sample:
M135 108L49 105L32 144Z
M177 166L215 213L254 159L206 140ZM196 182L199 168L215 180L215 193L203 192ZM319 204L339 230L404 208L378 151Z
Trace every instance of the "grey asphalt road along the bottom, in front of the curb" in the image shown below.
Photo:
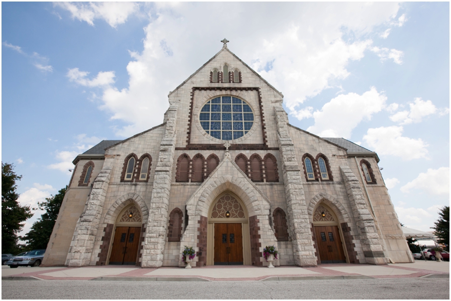
M449 299L449 278L303 281L3 280L3 299Z

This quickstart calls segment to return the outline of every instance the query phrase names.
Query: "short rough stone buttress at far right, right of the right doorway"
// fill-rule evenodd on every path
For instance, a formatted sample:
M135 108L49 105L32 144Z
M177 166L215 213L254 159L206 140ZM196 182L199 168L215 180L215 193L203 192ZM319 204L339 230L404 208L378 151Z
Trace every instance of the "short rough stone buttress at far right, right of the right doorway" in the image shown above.
M370 264L385 264L387 259L379 241L373 216L367 208L360 183L349 166L340 166L340 171L351 203L357 236L360 239L365 260Z

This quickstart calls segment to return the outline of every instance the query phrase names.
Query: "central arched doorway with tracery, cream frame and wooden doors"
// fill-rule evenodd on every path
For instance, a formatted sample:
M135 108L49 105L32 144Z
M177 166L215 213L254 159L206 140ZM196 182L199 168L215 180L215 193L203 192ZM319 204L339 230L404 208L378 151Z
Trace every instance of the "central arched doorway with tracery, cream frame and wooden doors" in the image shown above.
M208 210L207 265L251 265L248 210L233 192L223 192Z

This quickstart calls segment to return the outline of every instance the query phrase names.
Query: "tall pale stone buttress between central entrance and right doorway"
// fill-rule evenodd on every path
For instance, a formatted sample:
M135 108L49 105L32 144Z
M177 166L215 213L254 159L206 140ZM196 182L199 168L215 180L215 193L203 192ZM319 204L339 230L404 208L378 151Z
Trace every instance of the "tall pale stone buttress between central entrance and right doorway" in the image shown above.
M296 265L316 266L315 248L301 180L301 169L296 158L293 140L288 132L287 113L282 106L275 107L275 113L294 260Z

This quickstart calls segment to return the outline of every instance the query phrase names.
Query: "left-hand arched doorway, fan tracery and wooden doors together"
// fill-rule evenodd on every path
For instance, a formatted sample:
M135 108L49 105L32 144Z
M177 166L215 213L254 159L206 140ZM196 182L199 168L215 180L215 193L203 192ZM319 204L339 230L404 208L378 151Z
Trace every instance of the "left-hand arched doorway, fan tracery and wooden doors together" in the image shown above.
M108 264L136 264L141 224L142 214L137 205L131 204L121 211L115 223Z

